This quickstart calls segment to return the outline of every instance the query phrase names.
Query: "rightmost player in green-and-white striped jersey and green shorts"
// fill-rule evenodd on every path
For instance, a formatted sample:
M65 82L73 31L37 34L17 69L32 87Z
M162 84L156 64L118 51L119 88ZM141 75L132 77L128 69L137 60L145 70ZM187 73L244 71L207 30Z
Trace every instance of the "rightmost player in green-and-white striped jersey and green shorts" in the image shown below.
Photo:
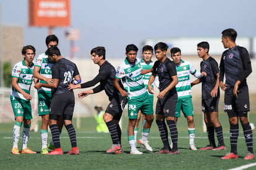
M189 148L190 150L197 150L194 143L195 138L195 124L194 124L194 109L192 103L192 94L189 74L200 79L202 74L197 72L190 62L181 59L181 49L174 47L171 49L171 58L176 65L178 83L176 85L178 100L176 104L176 113L174 121L177 124L178 117L181 117L181 111L187 118L187 125L189 130Z

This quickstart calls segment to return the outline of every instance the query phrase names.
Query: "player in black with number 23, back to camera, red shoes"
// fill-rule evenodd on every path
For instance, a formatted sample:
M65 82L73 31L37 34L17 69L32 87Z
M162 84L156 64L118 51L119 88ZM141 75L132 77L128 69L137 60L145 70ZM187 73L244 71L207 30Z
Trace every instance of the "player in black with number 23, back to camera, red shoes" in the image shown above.
M75 128L72 124L75 97L74 91L69 90L68 88L69 83L76 84L81 82L79 70L74 62L71 62L61 56L61 52L56 46L48 48L46 55L48 55L50 61L54 63L53 67L51 68L53 82L50 84L36 83L35 88L54 88L54 94L49 111L49 128L51 129L55 149L47 153L47 155L63 154L57 125L59 116L62 116L64 119L64 124L69 134L70 143L72 146L72 149L67 153L67 155L79 155Z

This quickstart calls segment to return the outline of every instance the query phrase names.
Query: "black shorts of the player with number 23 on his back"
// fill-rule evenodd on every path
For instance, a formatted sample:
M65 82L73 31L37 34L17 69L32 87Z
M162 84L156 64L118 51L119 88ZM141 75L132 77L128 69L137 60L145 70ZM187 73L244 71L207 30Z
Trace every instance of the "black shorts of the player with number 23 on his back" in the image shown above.
M51 100L51 106L49 114L64 115L68 114L73 115L75 108L75 97L73 91L62 93L60 95L53 95Z

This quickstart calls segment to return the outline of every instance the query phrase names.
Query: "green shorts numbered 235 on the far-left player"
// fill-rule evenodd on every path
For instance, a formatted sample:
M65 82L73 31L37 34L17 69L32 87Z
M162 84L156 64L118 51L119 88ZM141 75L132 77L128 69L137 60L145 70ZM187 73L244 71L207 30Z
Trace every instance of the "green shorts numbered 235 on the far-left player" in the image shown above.
M11 100L12 110L14 111L14 116L22 116L23 119L32 119L32 109L30 100L21 100L20 98L14 98Z

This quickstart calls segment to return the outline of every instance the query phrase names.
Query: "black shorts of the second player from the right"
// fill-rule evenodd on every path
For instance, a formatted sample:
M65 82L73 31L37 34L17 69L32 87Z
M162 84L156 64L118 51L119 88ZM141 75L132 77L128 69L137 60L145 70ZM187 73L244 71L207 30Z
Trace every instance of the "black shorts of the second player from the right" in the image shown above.
M220 98L208 98L202 100L202 111L204 113L218 112Z

